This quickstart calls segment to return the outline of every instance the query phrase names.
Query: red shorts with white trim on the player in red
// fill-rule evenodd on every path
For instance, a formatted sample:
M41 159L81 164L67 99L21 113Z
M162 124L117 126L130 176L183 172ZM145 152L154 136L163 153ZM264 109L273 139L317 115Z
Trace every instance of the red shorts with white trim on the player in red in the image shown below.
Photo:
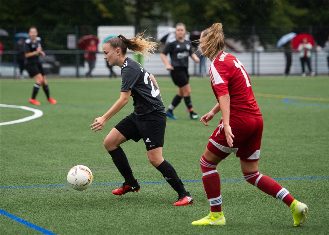
M263 119L230 116L230 126L235 136L232 138L233 147L227 144L222 118L209 138L207 145L209 151L223 159L234 152L244 162L258 161L261 152Z

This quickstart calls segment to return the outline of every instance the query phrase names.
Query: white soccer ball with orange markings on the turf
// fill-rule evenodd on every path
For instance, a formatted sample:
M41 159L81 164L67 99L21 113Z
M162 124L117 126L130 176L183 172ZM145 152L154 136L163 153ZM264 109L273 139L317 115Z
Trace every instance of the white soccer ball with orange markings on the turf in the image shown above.
M83 165L72 167L67 174L67 182L75 190L88 189L92 182L91 170Z

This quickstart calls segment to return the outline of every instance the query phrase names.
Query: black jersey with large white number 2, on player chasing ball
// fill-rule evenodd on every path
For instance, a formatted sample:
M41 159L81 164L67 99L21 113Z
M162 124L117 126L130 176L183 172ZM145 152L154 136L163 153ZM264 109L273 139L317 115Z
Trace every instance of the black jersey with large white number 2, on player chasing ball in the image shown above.
M121 69L121 91L131 89L134 114L145 115L153 111L164 111L159 89L153 84L150 74L136 61L126 58Z

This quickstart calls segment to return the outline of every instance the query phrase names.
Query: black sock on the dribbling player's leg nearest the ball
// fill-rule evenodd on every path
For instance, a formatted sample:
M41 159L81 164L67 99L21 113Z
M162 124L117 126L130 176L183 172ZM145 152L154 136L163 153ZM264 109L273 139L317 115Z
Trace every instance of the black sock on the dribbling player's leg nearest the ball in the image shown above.
M114 162L114 165L119 170L121 175L123 176L125 182L128 185L134 185L137 183L133 171L131 170L129 166L129 162L127 159L126 154L124 153L123 149L119 146L113 151L109 151L109 154L112 157L112 160Z

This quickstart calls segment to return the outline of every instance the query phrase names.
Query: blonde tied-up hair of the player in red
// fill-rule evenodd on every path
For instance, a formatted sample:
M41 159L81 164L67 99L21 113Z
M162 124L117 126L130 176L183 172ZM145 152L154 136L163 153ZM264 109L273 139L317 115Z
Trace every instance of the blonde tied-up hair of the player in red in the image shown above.
M202 33L203 38L198 41L200 41L202 47L207 48L202 52L202 55L212 60L220 51L225 49L223 25L221 23L215 23ZM201 48L199 47L199 49Z

